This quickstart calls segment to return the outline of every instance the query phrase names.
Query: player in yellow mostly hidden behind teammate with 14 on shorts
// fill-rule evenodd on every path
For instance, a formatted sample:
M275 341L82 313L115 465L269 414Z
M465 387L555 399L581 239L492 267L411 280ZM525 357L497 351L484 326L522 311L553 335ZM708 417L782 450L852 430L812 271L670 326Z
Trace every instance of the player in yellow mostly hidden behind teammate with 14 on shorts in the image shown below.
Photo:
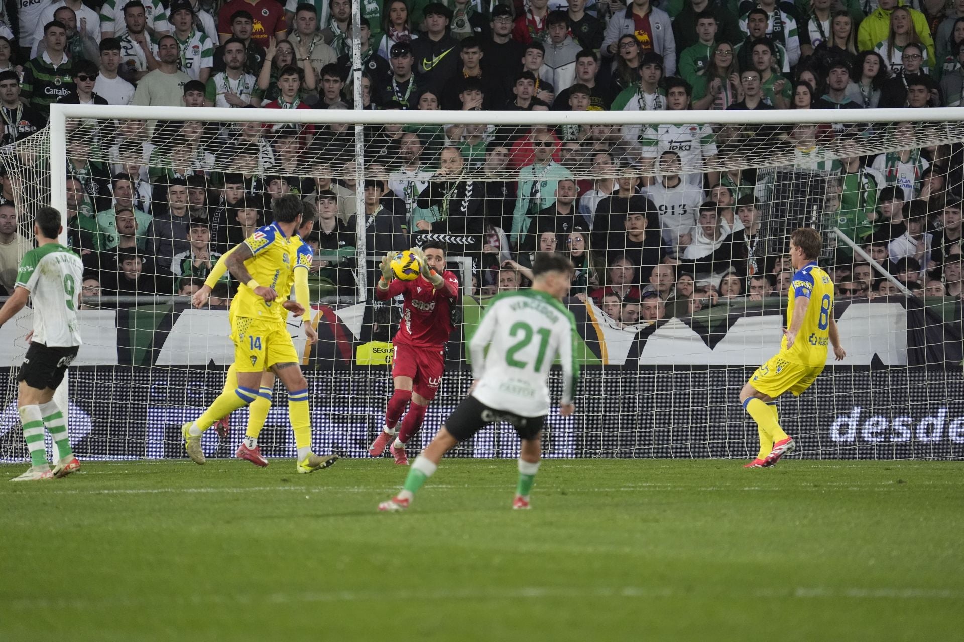
M296 243L295 257L293 257L292 260L292 265L294 266L295 301L305 309L302 315L302 321L305 323L305 333L308 336L309 344L313 344L318 340L318 333L315 331L314 326L311 325L311 304L308 295L308 270L311 268L313 252L311 246L305 243L305 239L308 238L313 227L313 217L306 217L302 220L301 227L298 228L298 236L301 243ZM218 259L214 268L211 269L211 273L204 281L201 290L194 294L192 301L195 307L202 308L207 304L207 300L210 298L214 286L228 271L228 256L230 256L235 249L237 249L236 246L225 252L225 254ZM289 294L290 293L279 291L278 298L275 300L283 301ZM237 376L237 367L232 363L225 376L223 392L232 393L238 387ZM268 419L268 413L271 410L271 395L274 386L275 373L271 371L263 372L261 374L261 387L257 392L257 397L254 398L254 401L248 406L248 425L245 429L244 442L238 447L237 452L235 452L235 456L239 459L250 461L255 466L260 466L261 468L268 465L268 460L261 455L261 450L258 449L257 446L257 438L261 434L261 429L264 427L264 423ZM225 433L227 434L228 417L223 417L215 422L215 428L217 428L219 424L225 425ZM219 432L219 434L221 433Z

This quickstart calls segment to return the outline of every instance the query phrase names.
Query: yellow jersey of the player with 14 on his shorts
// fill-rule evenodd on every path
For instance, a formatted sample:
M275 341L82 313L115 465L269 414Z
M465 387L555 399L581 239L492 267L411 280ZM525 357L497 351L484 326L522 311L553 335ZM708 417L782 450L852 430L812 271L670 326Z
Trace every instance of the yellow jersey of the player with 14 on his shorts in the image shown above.
M281 307L281 302L291 292L297 250L302 240L297 234L285 236L278 224L273 222L257 228L244 243L254 254L244 262L245 269L258 285L272 288L281 296L276 301L265 302L242 283L231 301L231 316L283 322L288 313Z

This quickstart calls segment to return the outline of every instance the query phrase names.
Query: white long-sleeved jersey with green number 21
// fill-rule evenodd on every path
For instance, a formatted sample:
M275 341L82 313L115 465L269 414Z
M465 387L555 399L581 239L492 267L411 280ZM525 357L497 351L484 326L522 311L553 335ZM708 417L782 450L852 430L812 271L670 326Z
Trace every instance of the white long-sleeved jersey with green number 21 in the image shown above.
M520 417L548 415L549 369L558 354L560 403L572 403L579 377L575 338L573 313L551 295L519 290L495 296L469 342L477 380L472 397Z

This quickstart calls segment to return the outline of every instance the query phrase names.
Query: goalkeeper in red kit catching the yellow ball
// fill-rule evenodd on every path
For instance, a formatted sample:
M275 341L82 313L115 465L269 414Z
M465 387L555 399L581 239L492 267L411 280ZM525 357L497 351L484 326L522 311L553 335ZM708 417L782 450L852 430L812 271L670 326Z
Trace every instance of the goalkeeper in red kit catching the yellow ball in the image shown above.
M435 398L442 382L445 368L445 343L452 333L452 312L459 297L459 279L445 270L445 250L442 244L430 242L412 252L421 266L412 281L395 278L391 270L389 252L379 268L382 278L375 288L375 297L388 300L402 295L402 321L392 339L394 353L391 360L391 377L395 392L388 399L385 426L368 449L373 457L380 457L385 447L391 445L395 463L407 466L405 444L418 432L428 404ZM402 428L395 437L395 425L412 401L412 407L402 421Z

